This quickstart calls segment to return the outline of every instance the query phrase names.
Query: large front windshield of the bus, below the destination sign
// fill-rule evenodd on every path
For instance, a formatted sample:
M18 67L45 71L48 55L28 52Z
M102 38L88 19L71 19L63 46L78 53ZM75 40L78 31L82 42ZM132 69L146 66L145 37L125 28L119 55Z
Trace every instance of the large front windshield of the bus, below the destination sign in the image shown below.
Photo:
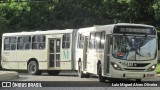
M121 60L153 60L156 58L156 37L114 35L112 55Z

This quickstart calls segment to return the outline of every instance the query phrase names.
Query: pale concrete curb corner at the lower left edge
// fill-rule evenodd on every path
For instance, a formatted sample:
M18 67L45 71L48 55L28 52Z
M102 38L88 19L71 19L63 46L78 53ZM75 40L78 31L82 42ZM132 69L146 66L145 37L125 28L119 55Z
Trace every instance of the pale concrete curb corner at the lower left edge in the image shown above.
M0 81L19 78L18 72L15 71L0 71Z

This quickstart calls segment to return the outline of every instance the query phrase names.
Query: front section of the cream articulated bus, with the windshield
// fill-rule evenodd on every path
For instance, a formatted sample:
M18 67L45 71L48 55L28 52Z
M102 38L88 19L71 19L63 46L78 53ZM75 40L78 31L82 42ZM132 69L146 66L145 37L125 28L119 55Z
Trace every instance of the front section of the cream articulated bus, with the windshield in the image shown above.
M154 26L118 23L80 28L77 34L76 70L79 77L155 78L158 59Z

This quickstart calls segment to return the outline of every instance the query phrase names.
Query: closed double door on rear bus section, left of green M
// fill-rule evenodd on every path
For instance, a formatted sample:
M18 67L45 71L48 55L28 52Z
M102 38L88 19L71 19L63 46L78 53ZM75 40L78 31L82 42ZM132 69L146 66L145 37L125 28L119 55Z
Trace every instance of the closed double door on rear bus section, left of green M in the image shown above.
M60 46L61 46L60 38L54 38L49 40L50 67L60 67Z

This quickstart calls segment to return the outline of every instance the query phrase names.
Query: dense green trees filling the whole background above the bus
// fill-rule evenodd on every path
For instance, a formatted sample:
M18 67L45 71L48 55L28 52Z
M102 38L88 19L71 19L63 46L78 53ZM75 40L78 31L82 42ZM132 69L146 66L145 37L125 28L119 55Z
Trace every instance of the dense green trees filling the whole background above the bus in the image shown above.
M159 0L46 0L0 3L10 32L144 23L160 28ZM1 21L0 21L1 22ZM1 28L2 28L1 26Z

